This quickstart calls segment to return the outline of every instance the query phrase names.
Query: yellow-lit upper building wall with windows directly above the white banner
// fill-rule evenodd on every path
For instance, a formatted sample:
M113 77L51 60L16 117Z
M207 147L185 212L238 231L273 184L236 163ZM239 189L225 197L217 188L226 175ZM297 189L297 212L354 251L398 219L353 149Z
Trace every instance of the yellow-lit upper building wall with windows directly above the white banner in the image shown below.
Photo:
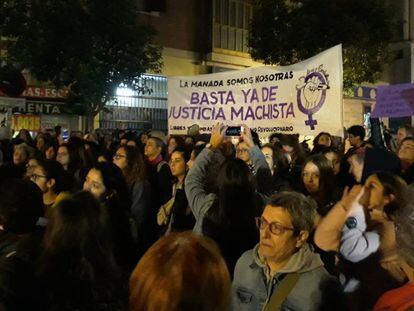
M163 12L141 12L163 47L165 76L198 75L260 66L247 53L251 1L166 0ZM214 42L213 42L214 41Z

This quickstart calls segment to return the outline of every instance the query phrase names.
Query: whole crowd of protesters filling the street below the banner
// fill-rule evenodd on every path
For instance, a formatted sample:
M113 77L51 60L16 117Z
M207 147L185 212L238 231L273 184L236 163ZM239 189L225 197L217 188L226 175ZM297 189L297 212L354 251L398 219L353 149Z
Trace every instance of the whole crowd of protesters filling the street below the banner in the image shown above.
M0 128L1 310L414 309L414 131Z

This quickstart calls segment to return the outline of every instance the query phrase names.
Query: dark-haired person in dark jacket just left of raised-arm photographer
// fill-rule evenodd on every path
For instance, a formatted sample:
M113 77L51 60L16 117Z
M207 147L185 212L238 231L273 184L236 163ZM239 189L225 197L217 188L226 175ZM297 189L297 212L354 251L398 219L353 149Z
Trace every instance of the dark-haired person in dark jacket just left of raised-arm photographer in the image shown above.
M190 154L183 147L177 147L171 153L170 168L176 181L172 186L172 198L161 206L157 215L158 225L164 226L167 233L191 230L195 224L184 190L184 180L188 172L187 162L189 160Z

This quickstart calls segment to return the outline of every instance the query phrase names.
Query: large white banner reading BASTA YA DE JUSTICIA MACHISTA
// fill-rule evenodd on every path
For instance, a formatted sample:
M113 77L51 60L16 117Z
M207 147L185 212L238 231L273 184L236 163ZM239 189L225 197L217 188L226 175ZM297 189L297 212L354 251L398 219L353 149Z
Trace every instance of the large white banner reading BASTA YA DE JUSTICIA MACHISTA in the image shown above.
M200 132L222 122L271 133L343 136L342 47L284 67L168 78L169 134Z

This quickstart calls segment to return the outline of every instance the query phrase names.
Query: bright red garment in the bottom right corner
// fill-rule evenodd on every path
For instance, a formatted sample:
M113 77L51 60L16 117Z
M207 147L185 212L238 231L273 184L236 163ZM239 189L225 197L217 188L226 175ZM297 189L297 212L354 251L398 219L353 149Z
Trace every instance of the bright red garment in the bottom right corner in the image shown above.
M373 311L407 310L414 310L414 283L411 282L384 293L373 309Z

